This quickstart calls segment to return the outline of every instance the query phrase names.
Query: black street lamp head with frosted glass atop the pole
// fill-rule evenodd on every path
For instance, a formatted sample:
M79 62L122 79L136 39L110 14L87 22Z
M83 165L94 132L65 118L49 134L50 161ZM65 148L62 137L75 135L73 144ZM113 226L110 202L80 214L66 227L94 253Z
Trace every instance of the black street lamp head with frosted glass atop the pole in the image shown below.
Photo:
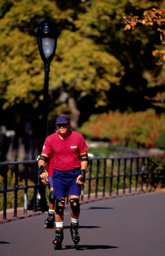
M45 63L52 61L55 56L59 27L55 20L45 19L37 23L37 39L40 56Z

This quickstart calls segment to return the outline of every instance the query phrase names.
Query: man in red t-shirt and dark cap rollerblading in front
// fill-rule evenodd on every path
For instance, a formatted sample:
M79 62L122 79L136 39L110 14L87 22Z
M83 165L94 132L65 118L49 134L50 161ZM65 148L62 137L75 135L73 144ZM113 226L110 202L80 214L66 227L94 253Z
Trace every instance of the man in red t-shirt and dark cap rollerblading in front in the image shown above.
M55 125L58 132L46 138L38 160L38 169L43 169L39 172L40 178L47 179L48 172L44 167L50 154L52 154L54 166L52 179L56 198L54 249L62 248L64 208L67 194L70 195L71 204L71 235L77 249L80 241L78 234L79 198L81 186L85 183L88 172L87 150L89 147L80 133L70 129L70 117L58 116Z

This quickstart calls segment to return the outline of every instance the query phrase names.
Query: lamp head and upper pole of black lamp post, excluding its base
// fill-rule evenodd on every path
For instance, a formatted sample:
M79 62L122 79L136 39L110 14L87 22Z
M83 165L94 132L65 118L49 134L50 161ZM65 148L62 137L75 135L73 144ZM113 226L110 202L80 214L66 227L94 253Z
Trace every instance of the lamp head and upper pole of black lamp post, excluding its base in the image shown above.
M43 133L41 138L41 148L46 138L47 119L48 119L48 87L50 63L55 56L57 37L59 35L59 27L55 20L45 19L37 23L37 41L41 59L44 62L44 87L43 87L43 113L42 126Z

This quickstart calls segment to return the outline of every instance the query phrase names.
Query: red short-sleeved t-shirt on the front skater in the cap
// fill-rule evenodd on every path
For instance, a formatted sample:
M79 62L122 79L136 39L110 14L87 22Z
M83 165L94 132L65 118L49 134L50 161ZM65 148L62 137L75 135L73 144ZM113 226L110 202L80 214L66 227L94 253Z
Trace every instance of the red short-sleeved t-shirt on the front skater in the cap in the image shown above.
M61 139L56 132L46 138L42 153L48 156L52 153L54 168L67 171L81 166L79 156L88 149L89 147L80 133L72 131L67 139Z

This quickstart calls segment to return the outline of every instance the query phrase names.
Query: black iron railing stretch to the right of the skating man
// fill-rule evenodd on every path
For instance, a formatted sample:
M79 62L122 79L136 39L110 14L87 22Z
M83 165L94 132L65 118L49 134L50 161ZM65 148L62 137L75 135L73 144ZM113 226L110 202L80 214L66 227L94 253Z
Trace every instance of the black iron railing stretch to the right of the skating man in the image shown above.
M115 191L119 194L125 194L126 188L128 193L134 191L147 190L149 171L149 157L109 157L109 158L92 158L90 160L89 176L86 178L85 186L88 188L88 198L91 193L97 198L98 192L105 192L109 196ZM85 192L86 193L86 192ZM83 200L83 197L81 198Z

